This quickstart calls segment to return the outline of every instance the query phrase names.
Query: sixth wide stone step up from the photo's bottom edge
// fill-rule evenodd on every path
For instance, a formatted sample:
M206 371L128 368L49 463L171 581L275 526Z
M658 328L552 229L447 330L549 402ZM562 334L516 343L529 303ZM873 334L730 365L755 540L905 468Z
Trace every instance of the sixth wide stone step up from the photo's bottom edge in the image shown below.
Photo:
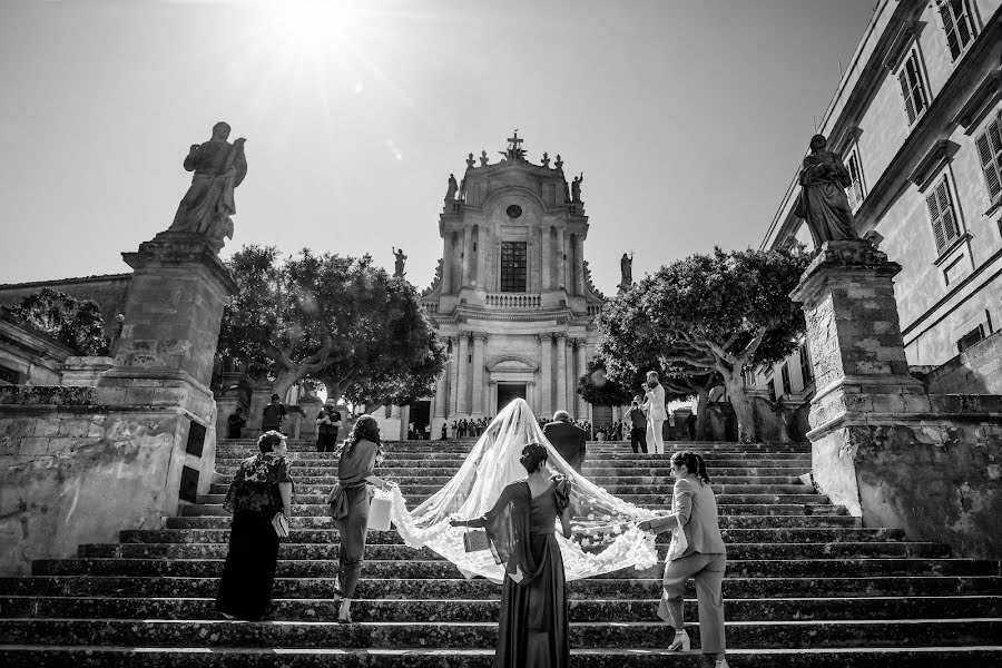
M667 536L667 534L661 534ZM660 543L662 552L667 543ZM287 560L334 560L338 543L282 543L278 558ZM226 559L225 543L174 544L131 543L80 546L84 559ZM727 558L743 559L859 559L877 557L945 558L950 547L930 542L839 542L839 543L730 543ZM406 546L369 544L365 559L381 561L444 560L429 548L415 550Z

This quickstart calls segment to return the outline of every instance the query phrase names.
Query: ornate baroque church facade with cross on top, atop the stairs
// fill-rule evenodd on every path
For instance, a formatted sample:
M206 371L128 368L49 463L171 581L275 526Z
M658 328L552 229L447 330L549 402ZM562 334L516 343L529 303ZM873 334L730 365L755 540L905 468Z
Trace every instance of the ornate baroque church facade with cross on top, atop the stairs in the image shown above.
M443 423L491 418L515 397L540 418L592 418L577 386L605 297L584 259L583 177L568 183L559 155L529 161L522 141L515 131L499 161L470 154L462 179L450 176L442 259L421 297L449 364L433 396L376 412L386 438L413 422L438 439Z

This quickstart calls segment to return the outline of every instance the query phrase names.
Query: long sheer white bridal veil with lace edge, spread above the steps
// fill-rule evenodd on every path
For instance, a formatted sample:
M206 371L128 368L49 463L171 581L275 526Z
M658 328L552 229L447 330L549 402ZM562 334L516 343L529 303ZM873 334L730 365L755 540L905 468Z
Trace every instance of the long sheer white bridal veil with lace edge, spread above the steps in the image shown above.
M578 474L539 429L524 400L517 399L491 422L459 472L431 498L412 511L394 487L391 519L404 542L412 548L428 547L455 566L466 577L483 576L501 582L504 571L494 562L491 550L466 552L462 528L451 527L452 518L478 518L493 508L501 491L525 479L519 463L522 448L530 442L546 445L550 468L571 483L573 533L558 536L568 580L580 580L621 568L647 569L657 562L654 536L640 531L637 523L655 517L613 497Z

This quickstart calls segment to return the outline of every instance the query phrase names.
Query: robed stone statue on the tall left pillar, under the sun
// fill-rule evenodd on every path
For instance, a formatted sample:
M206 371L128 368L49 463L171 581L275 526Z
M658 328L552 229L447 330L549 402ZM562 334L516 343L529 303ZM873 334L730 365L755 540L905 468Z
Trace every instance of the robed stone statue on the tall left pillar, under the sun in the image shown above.
M213 126L212 139L188 149L184 166L195 176L169 228L204 235L217 250L223 248L223 237L233 238L233 191L247 176L246 139L230 144L228 137L229 124L220 121Z

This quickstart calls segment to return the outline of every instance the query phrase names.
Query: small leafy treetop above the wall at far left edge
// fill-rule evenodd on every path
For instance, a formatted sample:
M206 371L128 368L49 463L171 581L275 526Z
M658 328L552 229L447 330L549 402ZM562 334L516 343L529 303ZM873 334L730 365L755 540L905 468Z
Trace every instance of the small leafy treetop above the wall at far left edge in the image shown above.
M48 287L26 296L3 311L48 334L80 355L107 355L105 318L90 299L76 299Z

